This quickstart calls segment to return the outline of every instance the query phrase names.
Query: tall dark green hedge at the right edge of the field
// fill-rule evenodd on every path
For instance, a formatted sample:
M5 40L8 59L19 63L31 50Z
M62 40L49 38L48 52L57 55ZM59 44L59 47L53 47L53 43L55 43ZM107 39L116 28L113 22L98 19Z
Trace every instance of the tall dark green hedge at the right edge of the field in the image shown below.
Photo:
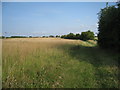
M102 48L120 48L120 5L109 6L99 12L98 45Z

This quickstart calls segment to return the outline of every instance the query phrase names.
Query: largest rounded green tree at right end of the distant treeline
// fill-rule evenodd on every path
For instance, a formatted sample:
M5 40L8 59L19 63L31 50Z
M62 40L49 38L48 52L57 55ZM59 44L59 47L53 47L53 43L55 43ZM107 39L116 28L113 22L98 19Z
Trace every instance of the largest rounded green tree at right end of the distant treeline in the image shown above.
M86 40L94 40L94 37L95 37L94 33L91 32L90 30L88 30L86 32L81 33L80 39L84 40L84 41L86 41Z

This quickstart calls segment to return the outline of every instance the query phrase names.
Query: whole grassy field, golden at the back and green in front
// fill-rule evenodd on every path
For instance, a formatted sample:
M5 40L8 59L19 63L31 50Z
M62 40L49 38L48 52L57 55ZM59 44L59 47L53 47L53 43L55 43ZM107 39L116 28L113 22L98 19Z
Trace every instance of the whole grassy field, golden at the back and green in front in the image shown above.
M118 53L96 41L2 40L3 88L118 88Z

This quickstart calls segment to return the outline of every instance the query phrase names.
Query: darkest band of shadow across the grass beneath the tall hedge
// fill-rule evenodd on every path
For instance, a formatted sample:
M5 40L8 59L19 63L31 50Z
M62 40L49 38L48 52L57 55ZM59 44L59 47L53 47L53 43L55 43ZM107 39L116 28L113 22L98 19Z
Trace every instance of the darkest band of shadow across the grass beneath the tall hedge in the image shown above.
M68 54L79 61L89 62L95 67L118 65L118 53L103 50L97 46L73 45L68 49Z

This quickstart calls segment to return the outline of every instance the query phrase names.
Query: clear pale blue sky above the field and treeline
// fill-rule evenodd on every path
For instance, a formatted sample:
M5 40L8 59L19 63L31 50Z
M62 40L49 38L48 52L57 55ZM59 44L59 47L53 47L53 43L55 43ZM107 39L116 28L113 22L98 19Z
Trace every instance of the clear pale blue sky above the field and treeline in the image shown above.
M105 2L3 2L3 34L42 36L87 30L97 33L97 13L105 6Z

